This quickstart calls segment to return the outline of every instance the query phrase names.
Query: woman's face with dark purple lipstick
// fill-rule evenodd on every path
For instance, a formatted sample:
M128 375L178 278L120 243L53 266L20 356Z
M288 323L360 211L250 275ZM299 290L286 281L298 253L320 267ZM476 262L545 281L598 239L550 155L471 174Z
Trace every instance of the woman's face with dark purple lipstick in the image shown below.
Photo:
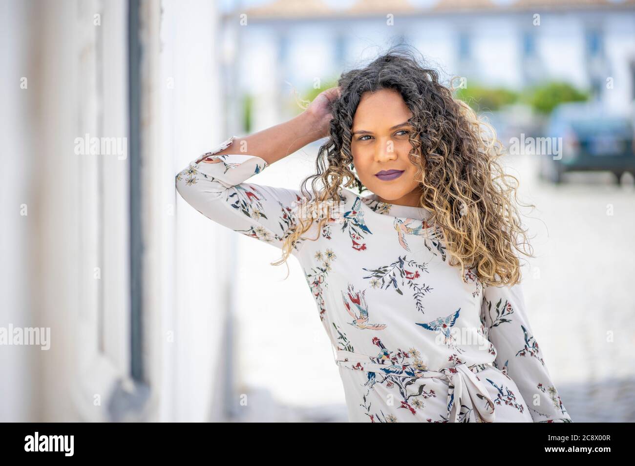
M351 152L359 180L380 201L418 207L417 167L408 159L411 116L398 91L364 93L353 117Z

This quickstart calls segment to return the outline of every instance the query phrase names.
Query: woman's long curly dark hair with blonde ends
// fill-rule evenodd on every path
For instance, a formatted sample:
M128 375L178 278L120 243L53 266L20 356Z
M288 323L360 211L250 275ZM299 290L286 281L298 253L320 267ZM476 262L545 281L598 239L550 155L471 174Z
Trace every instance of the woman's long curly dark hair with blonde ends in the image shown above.
M514 249L530 257L533 252L519 247L529 243L516 207L518 178L505 174L497 161L504 146L495 129L409 51L391 49L365 67L342 74L338 86L341 95L333 101L330 134L319 148L316 173L300 188L302 214L288 230L283 257L272 265L286 262L299 240L318 239L324 224L333 221L341 187L355 186L360 194L366 190L353 171L353 117L364 93L394 89L413 114L408 120L414 128L408 158L417 166L415 177L423 188L419 205L431 213L427 222L441 234L449 264L460 266L464 281L465 269L472 268L484 285L520 282ZM309 180L312 192L306 188ZM314 222L318 236L303 238Z

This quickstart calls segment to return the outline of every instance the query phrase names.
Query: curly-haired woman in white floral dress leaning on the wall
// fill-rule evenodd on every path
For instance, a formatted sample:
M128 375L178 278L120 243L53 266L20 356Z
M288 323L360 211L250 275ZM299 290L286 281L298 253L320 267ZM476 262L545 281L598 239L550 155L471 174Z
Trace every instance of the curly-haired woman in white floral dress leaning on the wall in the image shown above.
M526 314L514 177L483 127L389 51L177 174L203 215L300 261L352 422L571 422ZM300 190L248 182L324 137Z

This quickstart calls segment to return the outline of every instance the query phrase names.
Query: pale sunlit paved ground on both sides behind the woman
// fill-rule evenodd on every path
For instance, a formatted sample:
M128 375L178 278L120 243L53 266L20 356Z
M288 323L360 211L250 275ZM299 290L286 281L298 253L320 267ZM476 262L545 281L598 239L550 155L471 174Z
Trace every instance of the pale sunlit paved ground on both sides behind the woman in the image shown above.
M276 162L253 183L297 187L311 157ZM534 334L574 422L635 421L635 190L606 174L572 174L552 186L535 157L508 157L535 258L523 288ZM256 179L258 178L258 179ZM241 420L347 420L333 354L304 276L279 251L239 238L237 363Z

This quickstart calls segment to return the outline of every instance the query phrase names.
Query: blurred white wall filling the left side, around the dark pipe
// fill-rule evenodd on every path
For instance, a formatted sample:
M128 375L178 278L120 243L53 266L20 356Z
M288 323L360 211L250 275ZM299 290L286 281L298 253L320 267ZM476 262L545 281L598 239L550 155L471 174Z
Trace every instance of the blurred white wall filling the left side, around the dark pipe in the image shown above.
M74 152L85 133L128 136L128 1L0 11L0 327L51 332L48 351L0 346L0 421L109 420L116 384L126 420L222 416L231 241L175 192L177 171L225 138L215 4L140 3L147 399L129 377L130 141L125 159Z

